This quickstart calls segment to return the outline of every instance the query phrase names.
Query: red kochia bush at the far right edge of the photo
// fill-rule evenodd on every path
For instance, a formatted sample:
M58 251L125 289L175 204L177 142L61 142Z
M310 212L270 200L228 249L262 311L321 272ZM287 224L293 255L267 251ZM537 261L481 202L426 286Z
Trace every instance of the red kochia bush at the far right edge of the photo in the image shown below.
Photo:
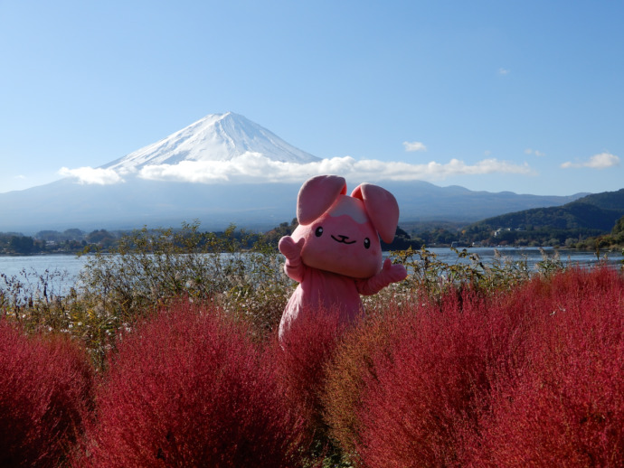
M525 366L496 393L475 466L624 465L624 281L571 270L525 288L544 306Z

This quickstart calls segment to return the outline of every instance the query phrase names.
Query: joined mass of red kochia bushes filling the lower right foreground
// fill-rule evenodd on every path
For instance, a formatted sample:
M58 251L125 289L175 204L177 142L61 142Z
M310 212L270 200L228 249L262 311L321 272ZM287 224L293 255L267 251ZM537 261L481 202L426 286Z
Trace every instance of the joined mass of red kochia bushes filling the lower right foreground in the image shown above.
M387 349L371 351L365 332L347 335L329 372L329 420L344 433L336 415L352 412L357 466L624 464L618 272L570 269L493 295L468 288L396 320ZM336 381L358 346L367 364L355 372L353 405L353 382L341 390Z

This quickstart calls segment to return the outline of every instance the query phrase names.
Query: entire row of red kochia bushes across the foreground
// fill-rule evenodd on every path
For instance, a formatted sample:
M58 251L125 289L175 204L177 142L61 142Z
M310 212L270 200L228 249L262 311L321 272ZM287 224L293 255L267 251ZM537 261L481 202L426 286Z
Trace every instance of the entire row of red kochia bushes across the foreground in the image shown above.
M0 465L624 466L624 277L411 292L281 341L180 301L118 334L98 376L0 321Z

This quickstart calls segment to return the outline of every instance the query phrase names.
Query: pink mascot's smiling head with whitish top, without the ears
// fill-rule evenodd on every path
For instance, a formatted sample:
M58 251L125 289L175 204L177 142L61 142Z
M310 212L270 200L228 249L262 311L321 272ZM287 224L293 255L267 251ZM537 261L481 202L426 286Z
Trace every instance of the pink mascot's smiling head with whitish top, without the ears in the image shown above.
M306 239L301 258L308 267L355 278L368 278L382 267L377 230L360 199L344 194L321 216L299 225L295 241Z

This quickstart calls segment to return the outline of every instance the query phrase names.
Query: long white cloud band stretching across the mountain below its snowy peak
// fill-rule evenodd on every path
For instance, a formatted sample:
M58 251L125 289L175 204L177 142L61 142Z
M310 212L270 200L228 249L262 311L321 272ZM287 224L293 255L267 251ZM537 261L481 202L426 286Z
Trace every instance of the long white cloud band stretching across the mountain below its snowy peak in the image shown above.
M348 179L376 181L443 180L452 175L515 173L533 175L528 164L512 164L496 158L466 164L451 159L441 164L383 162L373 159L356 160L351 156L320 159L300 164L272 160L262 154L247 152L228 161L181 161L177 164L149 164L137 169L63 167L61 175L79 183L123 183L128 175L141 179L184 183L300 183L321 173L340 173Z

